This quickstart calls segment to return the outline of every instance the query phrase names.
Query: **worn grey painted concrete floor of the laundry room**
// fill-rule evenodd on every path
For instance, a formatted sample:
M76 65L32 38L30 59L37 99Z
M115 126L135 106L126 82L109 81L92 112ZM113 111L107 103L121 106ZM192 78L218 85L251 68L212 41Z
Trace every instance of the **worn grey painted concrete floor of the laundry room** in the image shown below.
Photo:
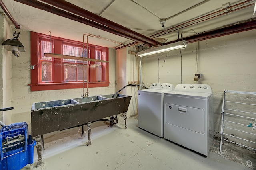
M207 158L180 147L163 138L138 128L137 117L127 120L124 130L123 117L118 124L108 127L108 122L92 123L92 145L86 146L88 132L81 137L81 128L73 128L44 135L42 151L44 164L36 165L34 148L34 170L252 170L256 168L255 152L250 157L232 160L234 152L222 148L218 152L218 141L214 141ZM247 152L242 149L242 153ZM238 151L239 152L239 151ZM250 152L250 151L248 151ZM229 156L228 156L229 155ZM246 167L246 161L252 161ZM22 170L28 170L29 166Z

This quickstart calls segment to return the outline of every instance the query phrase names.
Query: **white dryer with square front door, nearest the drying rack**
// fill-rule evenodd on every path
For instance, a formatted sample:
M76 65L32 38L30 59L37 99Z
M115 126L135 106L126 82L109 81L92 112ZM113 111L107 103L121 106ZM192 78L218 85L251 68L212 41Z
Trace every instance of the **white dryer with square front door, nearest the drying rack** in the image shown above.
M178 84L164 93L164 138L208 155L213 139L213 94L206 84Z

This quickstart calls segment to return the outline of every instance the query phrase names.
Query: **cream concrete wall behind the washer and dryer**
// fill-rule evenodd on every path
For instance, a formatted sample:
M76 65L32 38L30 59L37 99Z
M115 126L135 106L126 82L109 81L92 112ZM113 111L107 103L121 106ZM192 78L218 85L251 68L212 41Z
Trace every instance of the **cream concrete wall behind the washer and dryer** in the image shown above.
M214 131L219 132L224 89L256 92L255 47L256 30L251 30L200 41L199 46L198 42L189 43L181 53L173 50L142 57L142 82L145 86L158 81L174 86L180 83L210 85L214 93ZM195 82L197 70L202 78ZM255 98L252 100L255 104Z

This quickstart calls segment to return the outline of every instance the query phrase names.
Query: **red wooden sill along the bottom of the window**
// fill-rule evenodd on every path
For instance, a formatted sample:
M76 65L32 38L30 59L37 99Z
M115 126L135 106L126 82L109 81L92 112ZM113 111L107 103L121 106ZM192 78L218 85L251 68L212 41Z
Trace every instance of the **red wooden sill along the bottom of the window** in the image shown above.
M108 87L110 82L89 82L88 88L92 87ZM72 89L83 88L83 82L64 82L64 83L39 83L28 84L30 90L42 91L42 90L59 90L59 89ZM87 88L87 82L84 82L84 88Z

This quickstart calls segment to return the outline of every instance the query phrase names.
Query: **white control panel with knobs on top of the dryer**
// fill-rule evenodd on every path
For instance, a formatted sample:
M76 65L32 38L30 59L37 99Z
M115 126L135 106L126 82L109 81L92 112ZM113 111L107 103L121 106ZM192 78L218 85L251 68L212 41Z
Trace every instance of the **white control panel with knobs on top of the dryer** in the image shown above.
M174 90L184 92L212 93L212 88L207 84L177 84Z

